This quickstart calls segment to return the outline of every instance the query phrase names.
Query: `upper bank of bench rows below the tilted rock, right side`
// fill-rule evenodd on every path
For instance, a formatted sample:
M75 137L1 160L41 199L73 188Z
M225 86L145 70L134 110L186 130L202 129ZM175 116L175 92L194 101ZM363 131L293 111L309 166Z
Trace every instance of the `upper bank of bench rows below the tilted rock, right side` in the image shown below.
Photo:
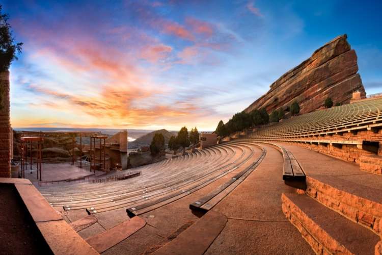
M382 98L296 116L238 141L293 143L382 174Z

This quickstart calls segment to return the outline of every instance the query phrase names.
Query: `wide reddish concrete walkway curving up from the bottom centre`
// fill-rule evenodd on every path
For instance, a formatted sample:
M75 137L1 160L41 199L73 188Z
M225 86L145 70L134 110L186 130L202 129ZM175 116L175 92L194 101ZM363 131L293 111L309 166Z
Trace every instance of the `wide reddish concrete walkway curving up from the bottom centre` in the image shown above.
M206 254L314 254L281 210L281 193L293 193L282 180L283 158L264 145L263 162L212 210L228 222Z

